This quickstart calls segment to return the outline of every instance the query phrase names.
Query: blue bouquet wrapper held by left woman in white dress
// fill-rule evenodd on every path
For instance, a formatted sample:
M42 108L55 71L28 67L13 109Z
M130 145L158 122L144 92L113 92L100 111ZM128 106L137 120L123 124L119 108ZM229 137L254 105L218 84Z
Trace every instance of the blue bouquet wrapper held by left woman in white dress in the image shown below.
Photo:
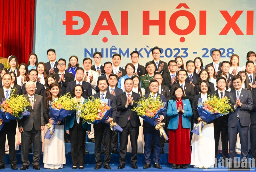
M49 116L54 120L54 123L51 125L51 129L48 128L46 131L44 138L50 139L52 137L52 134L55 130L55 124L57 124L58 121L62 121L65 117L70 116L72 113L74 113L75 110L66 110L66 109L56 109L52 108L52 106L49 108ZM49 123L48 123L49 124ZM46 124L46 125L48 125ZM50 125L50 124L49 124ZM52 130L52 134L51 134Z

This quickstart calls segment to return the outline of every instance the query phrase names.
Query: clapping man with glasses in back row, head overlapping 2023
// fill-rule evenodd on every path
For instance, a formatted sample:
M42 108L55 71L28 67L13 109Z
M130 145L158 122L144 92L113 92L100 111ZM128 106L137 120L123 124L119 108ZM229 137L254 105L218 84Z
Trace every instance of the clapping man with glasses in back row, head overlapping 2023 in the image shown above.
M160 72L162 75L164 73L168 73L168 64L159 59L161 55L161 49L159 47L154 47L151 52L154 58L154 60L152 60L151 62L154 62L156 64L156 72Z

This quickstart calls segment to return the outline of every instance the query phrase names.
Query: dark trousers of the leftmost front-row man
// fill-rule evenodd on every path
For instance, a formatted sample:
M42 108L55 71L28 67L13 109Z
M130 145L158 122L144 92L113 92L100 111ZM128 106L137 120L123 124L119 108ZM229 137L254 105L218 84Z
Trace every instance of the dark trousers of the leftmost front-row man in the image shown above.
M15 134L17 125L8 126L9 123L2 123L3 128L0 131L0 165L5 164L5 140L7 135L10 162L11 164L17 164L16 152L15 152Z

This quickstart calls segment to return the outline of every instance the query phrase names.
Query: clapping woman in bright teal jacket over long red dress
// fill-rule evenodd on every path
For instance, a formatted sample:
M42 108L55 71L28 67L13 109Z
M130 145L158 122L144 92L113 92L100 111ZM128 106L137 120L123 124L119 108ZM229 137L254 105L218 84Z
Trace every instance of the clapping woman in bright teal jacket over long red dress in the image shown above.
M179 77L179 76L178 76ZM173 169L188 168L190 164L190 122L192 108L180 85L173 90L173 100L169 100L167 116L170 117L169 130L169 159Z

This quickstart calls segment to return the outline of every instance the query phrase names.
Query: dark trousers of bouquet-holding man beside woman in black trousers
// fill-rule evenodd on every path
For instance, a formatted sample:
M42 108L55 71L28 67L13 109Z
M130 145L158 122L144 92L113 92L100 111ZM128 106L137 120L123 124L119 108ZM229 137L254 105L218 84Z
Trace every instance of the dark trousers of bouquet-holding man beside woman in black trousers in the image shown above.
M95 149L94 149L94 153L95 153L95 163L96 164L102 164L101 158L100 158L100 146L102 143L102 137L103 137L103 133L105 138L105 158L104 158L104 162L103 164L106 165L107 163L110 162L110 158L111 158L111 130L108 126L108 124L106 123L98 123L94 126L94 139L95 139Z

